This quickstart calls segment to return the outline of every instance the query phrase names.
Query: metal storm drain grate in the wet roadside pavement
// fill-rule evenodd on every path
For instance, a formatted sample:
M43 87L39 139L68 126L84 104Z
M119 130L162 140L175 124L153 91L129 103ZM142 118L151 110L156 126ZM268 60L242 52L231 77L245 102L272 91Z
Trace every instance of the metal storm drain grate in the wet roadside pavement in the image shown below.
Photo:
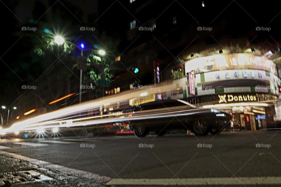
M6 183L29 183L49 180L53 179L35 170L8 172L0 174L0 186L4 186Z

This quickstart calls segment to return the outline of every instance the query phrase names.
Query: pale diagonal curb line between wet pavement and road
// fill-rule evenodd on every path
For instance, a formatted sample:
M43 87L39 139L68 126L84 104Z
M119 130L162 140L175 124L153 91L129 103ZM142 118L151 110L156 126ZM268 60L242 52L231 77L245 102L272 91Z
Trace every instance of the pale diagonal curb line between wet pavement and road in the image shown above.
M0 151L0 154L6 155L8 157L17 158L17 159L20 159L20 160L26 160L28 162L31 162L32 164L40 165L42 167L46 167L46 168L49 168L49 169L54 169L54 170L57 170L59 172L69 173L69 174L72 174L74 176L83 177L83 178L86 178L86 179L89 179L89 180L95 180L95 181L100 182L100 183L105 183L105 182L108 182L108 181L111 180L111 178L107 177L107 176L101 176L99 174L95 174L95 173L92 173L92 172L85 172L85 171L78 170L78 169L72 169L72 168L69 168L69 167L65 167L65 166L56 165L56 164L53 164L53 163L50 163L50 162L46 162L46 161L43 161L43 160L37 160L37 159L34 159L34 158L25 157L25 156L22 156L22 155L17 155L15 153L8 153L8 152L5 152L5 151Z

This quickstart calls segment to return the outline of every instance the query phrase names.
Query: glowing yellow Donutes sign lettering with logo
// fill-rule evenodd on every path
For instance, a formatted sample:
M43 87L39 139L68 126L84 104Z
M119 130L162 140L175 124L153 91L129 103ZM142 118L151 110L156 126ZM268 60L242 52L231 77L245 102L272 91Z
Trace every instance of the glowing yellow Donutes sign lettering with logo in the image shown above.
M232 94L224 94L218 95L220 101L219 103L227 103L233 101L257 101L257 95L245 94L245 95L232 95Z

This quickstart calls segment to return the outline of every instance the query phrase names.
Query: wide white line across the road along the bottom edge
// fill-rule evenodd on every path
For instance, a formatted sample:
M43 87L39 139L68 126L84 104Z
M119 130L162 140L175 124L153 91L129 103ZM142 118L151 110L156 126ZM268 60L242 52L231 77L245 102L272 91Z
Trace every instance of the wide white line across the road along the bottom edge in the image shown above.
M281 177L222 177L222 178L187 178L187 179L112 179L107 185L273 185L281 184Z

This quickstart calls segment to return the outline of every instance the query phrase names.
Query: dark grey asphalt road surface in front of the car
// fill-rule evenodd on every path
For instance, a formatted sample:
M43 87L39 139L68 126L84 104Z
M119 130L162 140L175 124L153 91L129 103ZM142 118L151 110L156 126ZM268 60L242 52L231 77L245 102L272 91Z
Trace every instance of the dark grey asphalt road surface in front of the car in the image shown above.
M280 177L280 140L281 131L2 139L0 150L114 179L235 179Z

